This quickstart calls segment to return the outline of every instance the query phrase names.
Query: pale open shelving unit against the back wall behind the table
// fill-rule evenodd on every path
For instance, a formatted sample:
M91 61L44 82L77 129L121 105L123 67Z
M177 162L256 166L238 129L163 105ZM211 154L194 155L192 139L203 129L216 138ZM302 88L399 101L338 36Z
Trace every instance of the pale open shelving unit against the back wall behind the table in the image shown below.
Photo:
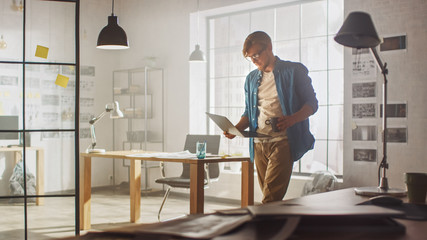
M124 118L113 123L114 150L164 151L164 70L142 67L113 71L113 101L118 101ZM123 160L123 166L129 167ZM158 163L142 163L148 190L150 168ZM114 172L113 172L114 174Z

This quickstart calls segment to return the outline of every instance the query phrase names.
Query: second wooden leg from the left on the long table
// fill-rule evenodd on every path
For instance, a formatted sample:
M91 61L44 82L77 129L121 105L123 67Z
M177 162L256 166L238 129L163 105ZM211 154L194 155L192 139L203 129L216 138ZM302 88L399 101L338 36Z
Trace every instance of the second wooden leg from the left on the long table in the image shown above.
M130 160L130 221L136 223L141 215L141 160Z

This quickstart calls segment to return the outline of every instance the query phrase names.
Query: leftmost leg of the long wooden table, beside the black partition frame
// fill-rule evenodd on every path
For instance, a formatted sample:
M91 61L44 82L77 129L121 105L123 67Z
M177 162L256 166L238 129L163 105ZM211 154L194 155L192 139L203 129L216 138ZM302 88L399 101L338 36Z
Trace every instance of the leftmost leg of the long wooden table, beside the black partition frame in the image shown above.
M80 230L90 229L91 158L80 158Z

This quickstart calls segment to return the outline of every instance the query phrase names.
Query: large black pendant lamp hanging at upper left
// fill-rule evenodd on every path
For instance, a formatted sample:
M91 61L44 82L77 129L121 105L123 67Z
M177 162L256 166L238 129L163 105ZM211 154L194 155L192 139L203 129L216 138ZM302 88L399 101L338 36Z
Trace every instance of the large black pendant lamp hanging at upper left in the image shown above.
M111 16L108 16L108 25L105 26L98 36L96 48L99 49L128 49L129 43L126 32L118 24L117 16L114 16L114 0L112 0Z

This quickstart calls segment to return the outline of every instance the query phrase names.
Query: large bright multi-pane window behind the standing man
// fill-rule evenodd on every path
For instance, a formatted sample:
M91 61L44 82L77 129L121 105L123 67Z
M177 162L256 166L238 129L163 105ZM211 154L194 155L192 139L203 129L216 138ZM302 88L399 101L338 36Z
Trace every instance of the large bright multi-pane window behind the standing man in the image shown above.
M319 110L310 117L315 147L294 165L294 172L328 170L342 175L344 59L343 48L333 37L343 21L343 0L293 2L223 13L207 20L208 111L226 115L233 123L239 121L245 104L245 78L255 69L243 58L242 45L249 33L265 31L277 56L307 66L319 100ZM208 123L208 132L222 134L212 123ZM220 151L247 155L248 140L223 138Z

